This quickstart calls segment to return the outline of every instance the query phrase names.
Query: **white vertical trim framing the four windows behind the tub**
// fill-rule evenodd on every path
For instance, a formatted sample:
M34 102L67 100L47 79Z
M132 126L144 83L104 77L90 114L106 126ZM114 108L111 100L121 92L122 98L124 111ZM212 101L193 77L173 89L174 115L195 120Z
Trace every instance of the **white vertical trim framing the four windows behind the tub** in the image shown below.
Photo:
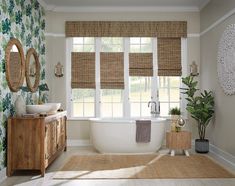
M95 61L95 68L100 69L100 52L101 52L101 38L96 37L95 38L95 55L96 55L96 61ZM130 52L130 38L125 37L123 42L123 49L124 49L124 82L125 82L125 89L123 90L123 118L132 118L130 116L130 100L129 100L129 52ZM159 106L159 85L158 85L158 78L157 78L157 71L158 71L158 58L157 58L157 38L152 38L152 48L153 48L153 77L151 78L151 99L157 102L157 106ZM66 104L66 110L68 111L68 119L69 120L88 120L88 117L74 117L72 116L73 113L73 107L72 107L72 89L71 89L71 52L73 51L73 39L67 38L66 39L66 97L67 97L67 104ZM181 39L181 56L182 56L182 76L187 75L187 38ZM181 81L180 81L181 82ZM156 85L156 86L154 86ZM183 87L183 84L181 82L180 87ZM169 84L168 84L168 90L169 90ZM100 117L100 71L96 70L96 91L95 91L95 116L94 117ZM168 94L168 96L170 96ZM186 100L185 96L180 94L181 100L180 100L180 108L182 115L187 118L187 111L186 111ZM170 98L168 99L170 101ZM150 100L149 100L150 101ZM172 102L173 103L173 102ZM147 103L146 103L147 104ZM170 104L170 102L169 102ZM169 107L170 108L170 107ZM149 110L150 112L150 110ZM162 116L161 116L162 117ZM168 118L167 116L163 116L164 118Z

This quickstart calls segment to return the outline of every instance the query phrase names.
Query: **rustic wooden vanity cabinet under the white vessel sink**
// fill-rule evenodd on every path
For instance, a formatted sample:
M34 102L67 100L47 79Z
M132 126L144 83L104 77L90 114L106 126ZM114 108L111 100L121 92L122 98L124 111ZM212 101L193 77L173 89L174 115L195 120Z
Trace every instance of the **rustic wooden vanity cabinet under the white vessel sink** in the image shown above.
M7 125L7 176L15 170L40 170L66 150L66 112L46 117L11 117Z

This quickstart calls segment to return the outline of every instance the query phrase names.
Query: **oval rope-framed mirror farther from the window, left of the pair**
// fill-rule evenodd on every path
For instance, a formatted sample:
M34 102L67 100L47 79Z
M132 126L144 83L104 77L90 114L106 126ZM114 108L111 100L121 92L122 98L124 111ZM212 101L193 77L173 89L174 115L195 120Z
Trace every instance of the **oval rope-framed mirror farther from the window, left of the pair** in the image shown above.
M5 50L6 80L12 92L17 92L23 85L25 76L25 58L22 45L12 38Z

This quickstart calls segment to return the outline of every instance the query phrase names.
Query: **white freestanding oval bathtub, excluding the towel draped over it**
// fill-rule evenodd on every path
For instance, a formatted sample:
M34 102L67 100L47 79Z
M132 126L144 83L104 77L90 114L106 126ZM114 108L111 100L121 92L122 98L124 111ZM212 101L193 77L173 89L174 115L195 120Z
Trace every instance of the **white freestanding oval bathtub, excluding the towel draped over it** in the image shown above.
M135 120L91 119L91 141L101 153L154 153L162 145L165 119L151 119L151 140L136 142Z

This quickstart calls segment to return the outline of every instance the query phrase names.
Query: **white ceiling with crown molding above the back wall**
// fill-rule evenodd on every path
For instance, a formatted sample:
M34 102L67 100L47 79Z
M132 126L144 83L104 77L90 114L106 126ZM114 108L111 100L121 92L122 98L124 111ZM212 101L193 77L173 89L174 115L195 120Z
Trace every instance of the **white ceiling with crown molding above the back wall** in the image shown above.
M210 0L38 0L58 12L200 11Z

